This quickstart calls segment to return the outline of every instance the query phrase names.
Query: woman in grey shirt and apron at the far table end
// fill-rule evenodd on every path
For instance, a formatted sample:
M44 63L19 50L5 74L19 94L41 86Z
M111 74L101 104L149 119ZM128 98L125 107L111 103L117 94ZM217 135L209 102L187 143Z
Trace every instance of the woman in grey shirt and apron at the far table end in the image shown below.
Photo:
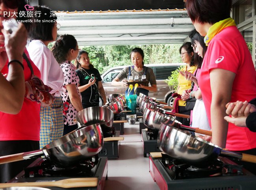
M133 66L124 68L115 78L112 80L112 85L114 86L125 86L127 85L127 80L129 76L133 76L133 78L137 75L140 79L142 75L146 75L146 80L148 80L151 86L144 86L140 84L137 88L137 94L143 93L148 96L149 91L156 92L157 91L157 82L155 80L155 75L153 73L153 69L144 66L144 52L140 48L134 48L131 51L131 62ZM123 80L125 79L125 80ZM128 88L125 90L125 95L127 95ZM130 94L134 93L134 88Z

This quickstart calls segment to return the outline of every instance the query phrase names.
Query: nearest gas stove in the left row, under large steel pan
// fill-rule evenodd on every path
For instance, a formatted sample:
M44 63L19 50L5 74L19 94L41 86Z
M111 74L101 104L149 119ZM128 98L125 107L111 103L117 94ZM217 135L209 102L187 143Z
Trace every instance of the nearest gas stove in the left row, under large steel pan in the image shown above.
M98 183L94 187L68 188L69 190L103 190L105 180L107 179L108 165L107 157L98 157L97 155L80 161L75 166L68 168L58 168L54 166L48 159L38 158L27 168L25 168L16 177L8 181L8 183L18 182L52 182L62 179L71 178L92 178L97 177ZM65 188L49 186L51 190L62 190Z

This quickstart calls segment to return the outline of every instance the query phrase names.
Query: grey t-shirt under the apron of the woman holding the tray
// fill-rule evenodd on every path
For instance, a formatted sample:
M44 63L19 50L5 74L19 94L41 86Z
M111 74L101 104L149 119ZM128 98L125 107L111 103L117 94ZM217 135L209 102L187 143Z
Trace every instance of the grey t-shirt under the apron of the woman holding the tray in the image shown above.
M133 76L134 78L135 75L138 75L139 79L141 79L141 76L144 75L146 68L148 68L146 73L146 79L150 82L151 86L153 84L157 84L157 81L155 80L155 74L153 73L153 69L144 66L142 71L137 72L133 69L132 66L130 66L130 68L131 68L131 76ZM126 67L116 77L121 81L123 79L128 79L128 75L129 75L129 67Z

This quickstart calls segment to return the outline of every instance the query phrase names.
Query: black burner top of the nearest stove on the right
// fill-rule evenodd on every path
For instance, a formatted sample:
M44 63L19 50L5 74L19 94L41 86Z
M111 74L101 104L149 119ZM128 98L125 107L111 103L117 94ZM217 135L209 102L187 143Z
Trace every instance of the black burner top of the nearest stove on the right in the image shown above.
M219 159L216 159L212 164L205 168L191 166L183 161L173 159L166 154L162 154L162 159L160 161L172 179L191 179L221 175L243 175L242 166L225 164Z

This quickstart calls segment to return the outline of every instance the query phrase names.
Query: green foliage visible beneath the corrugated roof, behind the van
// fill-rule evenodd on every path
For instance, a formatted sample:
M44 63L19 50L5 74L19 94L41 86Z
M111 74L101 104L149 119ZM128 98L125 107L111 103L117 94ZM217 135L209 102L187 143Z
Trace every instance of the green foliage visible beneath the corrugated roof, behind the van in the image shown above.
M133 48L144 51L145 64L179 63L180 44L129 45L129 46L84 46L90 60L101 74L114 66L131 65L130 53Z

